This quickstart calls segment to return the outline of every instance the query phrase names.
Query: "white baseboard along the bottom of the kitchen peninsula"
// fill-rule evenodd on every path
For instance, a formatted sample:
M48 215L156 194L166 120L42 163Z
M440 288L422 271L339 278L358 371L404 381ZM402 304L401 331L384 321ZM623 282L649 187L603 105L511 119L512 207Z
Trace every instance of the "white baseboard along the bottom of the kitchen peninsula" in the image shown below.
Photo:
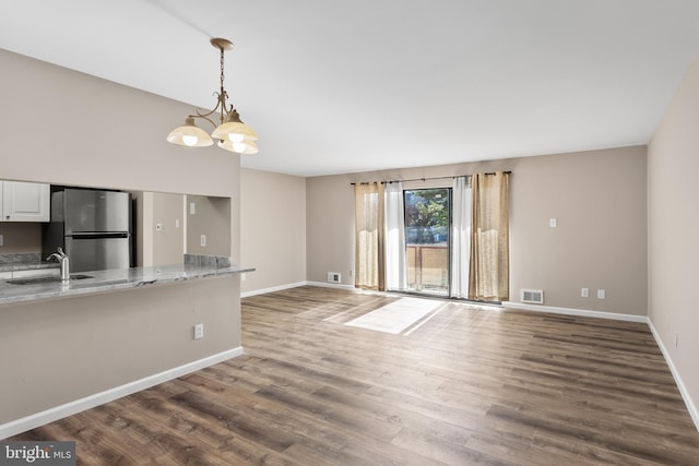
M242 347L232 348L217 355L212 355L197 361L188 362L177 368L168 369L166 371L149 375L144 379L137 380L114 389L106 390L94 395L85 396L84 398L75 399L64 405L56 406L50 409L46 409L40 413L36 413L31 416L23 417L3 425L0 425L0 440L8 437L16 435L17 433L25 432L31 429L44 426L49 422L62 419L67 416L72 416L85 409L94 408L95 406L104 405L105 403L112 402L123 396L130 395L135 392L140 392L145 389L150 389L158 383L167 382L168 380L177 379L178 377L187 375L188 373L196 372L198 370L208 368L209 366L223 362L230 358L242 355Z

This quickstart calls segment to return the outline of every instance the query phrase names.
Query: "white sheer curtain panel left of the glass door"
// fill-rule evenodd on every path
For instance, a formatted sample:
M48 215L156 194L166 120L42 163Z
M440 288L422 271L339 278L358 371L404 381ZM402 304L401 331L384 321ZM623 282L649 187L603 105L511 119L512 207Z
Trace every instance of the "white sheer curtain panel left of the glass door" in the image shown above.
M405 273L405 208L403 183L386 187L386 288L404 290Z

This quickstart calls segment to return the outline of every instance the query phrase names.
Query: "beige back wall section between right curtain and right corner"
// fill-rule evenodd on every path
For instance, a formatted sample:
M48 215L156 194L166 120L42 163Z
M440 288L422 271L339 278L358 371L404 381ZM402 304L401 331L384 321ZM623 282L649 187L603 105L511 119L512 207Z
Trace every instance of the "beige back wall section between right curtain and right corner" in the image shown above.
M647 315L645 147L532 157L513 170L511 299L544 289L546 306Z

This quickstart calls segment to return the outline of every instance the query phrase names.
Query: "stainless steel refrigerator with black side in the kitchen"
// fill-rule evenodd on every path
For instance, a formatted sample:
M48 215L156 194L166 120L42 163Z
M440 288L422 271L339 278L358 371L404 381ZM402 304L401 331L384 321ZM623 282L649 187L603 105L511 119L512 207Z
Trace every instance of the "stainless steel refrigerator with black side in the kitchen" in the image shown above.
M71 272L131 266L131 194L66 188L51 194L44 256L62 247Z

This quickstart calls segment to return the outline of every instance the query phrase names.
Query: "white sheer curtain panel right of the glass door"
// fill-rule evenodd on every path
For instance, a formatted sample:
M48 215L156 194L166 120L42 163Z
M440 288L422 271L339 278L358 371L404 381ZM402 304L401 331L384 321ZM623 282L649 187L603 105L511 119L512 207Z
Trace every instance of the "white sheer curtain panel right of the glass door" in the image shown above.
M454 178L451 216L452 298L469 298L471 261L471 183L466 177Z

